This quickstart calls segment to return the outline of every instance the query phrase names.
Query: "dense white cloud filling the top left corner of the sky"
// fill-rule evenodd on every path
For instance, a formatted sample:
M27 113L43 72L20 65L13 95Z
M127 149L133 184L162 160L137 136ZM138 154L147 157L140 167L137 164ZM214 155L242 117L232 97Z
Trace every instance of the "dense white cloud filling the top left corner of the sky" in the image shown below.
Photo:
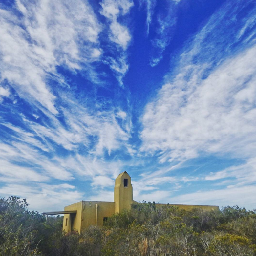
M55 67L81 69L82 62L90 63L91 49L93 58L99 56L101 25L87 1L17 1L17 9L23 14L19 20L15 11L1 10L1 79L30 103L57 114L47 80L62 83Z

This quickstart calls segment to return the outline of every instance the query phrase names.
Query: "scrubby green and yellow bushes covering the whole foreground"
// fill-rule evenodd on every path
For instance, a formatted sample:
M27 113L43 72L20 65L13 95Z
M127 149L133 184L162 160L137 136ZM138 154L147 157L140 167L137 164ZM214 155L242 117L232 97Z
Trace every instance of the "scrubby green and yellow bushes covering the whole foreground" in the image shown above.
M256 211L180 210L132 205L103 227L62 231L62 217L27 210L26 200L0 198L0 256L255 256Z

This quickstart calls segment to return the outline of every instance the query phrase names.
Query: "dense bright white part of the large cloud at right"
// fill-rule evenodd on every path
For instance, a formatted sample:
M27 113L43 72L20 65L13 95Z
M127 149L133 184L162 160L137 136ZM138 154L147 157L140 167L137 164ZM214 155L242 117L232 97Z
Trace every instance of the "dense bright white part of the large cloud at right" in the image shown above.
M207 79L188 82L179 74L165 84L143 116L143 150L171 150L166 159L184 160L198 152L250 157L256 147L254 107L256 47L226 60ZM182 88L186 86L186 90Z

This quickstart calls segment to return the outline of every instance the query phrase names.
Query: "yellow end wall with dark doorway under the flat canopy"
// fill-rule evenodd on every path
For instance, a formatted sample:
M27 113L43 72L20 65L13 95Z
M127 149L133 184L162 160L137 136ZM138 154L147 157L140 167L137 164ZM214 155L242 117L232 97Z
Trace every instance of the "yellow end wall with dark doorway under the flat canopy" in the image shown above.
M78 203L73 203L69 206L66 206L64 208L65 211L74 211L77 210L77 213L71 213L71 214L64 214L63 218L63 229L66 232L71 231L71 224L73 221L73 229L76 229L79 233L81 231L81 218L82 218L82 201ZM67 226L66 226L66 219L67 221Z

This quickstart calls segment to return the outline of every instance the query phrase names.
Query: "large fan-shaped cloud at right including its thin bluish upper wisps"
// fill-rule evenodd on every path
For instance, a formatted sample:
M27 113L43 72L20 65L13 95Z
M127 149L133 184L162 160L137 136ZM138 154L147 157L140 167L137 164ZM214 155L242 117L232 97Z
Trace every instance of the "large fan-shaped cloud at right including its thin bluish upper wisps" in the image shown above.
M146 106L142 150L165 152L162 161L195 158L202 151L252 156L256 146L256 47L247 33L239 49L234 48L237 54L228 58L233 38L230 43L225 41L228 35L222 30L226 29L218 28L223 24L221 18L230 12L230 5L217 12L189 50L184 50L174 78L167 78L169 82L163 85L157 99ZM239 7L237 4L232 11L236 13ZM245 28L245 24L246 19L239 27ZM230 23L227 26L232 27ZM215 38L208 39L208 35ZM246 42L247 46L243 46L249 37L251 44ZM216 41L223 42L218 46L221 53L217 53L218 47L214 53L208 52L210 40L215 40L212 47Z

